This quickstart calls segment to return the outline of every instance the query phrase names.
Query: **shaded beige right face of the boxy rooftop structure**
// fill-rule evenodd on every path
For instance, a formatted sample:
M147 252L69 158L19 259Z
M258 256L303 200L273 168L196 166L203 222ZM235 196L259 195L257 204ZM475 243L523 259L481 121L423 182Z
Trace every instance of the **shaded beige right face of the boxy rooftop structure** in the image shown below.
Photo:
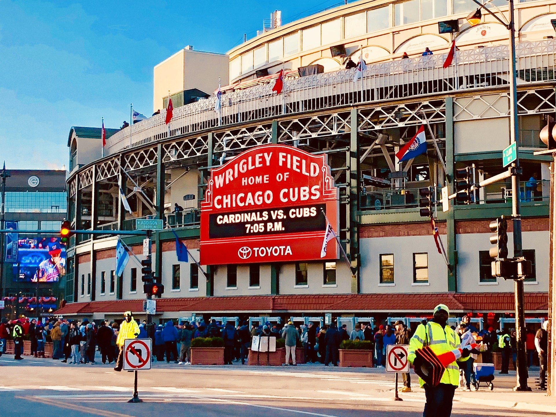
M184 49L185 65L183 90L198 88L212 94L218 88L218 77L222 86L230 81L230 57L218 53L189 51Z

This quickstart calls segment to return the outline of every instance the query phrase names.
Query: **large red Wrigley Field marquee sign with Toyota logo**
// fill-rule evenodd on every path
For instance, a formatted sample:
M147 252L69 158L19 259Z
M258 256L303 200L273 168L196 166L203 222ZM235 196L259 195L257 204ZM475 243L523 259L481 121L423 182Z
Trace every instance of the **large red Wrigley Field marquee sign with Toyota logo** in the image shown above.
M322 211L337 231L338 198L325 154L285 145L245 151L211 170L201 203L201 264L337 259L336 240L320 255Z

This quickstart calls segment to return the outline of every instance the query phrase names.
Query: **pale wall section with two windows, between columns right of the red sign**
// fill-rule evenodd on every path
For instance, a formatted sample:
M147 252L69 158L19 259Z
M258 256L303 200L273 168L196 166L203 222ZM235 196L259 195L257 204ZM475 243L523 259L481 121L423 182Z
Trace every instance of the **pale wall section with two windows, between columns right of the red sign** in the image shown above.
M446 247L446 236L440 237ZM448 291L448 268L432 235L365 238L359 241L359 251L359 280L364 294ZM414 283L413 254L423 252L429 254L429 282ZM380 254L394 254L394 284L380 284Z

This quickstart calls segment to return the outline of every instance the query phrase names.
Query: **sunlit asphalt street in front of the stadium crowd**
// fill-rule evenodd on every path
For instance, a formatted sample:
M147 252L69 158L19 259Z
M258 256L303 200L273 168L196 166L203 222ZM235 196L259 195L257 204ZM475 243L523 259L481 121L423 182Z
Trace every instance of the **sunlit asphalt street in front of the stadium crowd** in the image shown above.
M415 380L416 381L416 377ZM456 393L454 417L552 415L508 408L502 398L544 400L542 393L511 393L515 376L499 376L495 389ZM533 378L530 383L534 385ZM238 416L361 417L420 416L424 392L393 401L394 376L384 369L293 367L180 366L153 363L138 373L140 404L128 404L133 373L112 365L68 365L52 359L0 358L0 416L152 417Z

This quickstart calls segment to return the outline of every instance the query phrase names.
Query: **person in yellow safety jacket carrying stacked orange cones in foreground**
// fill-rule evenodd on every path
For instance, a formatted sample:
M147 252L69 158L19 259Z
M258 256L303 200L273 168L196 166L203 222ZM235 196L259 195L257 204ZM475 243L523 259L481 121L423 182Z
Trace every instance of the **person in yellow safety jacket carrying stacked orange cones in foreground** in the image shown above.
M415 351L423 346L430 346L436 355L440 355L461 347L458 334L446 323L450 310L444 304L434 307L433 319L426 324L420 324L415 334L409 340L408 359L413 364ZM464 349L458 361L465 361L470 350ZM440 384L429 386L419 378L419 385L425 389L425 409L423 417L450 417L454 391L459 386L459 367L454 361L446 366Z

